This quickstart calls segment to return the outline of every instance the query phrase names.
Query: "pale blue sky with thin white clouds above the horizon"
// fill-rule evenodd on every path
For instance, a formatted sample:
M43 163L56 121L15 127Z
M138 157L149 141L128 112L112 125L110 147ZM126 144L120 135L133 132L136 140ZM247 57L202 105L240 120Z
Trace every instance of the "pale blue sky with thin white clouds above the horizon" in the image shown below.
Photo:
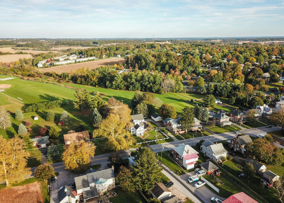
M0 0L0 38L284 36L284 0Z

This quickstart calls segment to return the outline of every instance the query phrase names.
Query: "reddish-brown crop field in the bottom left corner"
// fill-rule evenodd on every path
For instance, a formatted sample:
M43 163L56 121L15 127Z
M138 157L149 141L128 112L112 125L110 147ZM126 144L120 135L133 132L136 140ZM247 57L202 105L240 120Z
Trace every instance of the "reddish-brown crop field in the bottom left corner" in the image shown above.
M40 186L37 182L28 185L0 190L0 202L43 203Z

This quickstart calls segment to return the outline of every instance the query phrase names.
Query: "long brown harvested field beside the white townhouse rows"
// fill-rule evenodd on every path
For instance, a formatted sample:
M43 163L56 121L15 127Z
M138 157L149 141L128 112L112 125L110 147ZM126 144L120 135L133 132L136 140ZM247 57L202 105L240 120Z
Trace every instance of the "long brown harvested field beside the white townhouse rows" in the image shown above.
M55 66L50 68L44 68L44 69L38 69L42 72L52 72L55 71L58 74L61 74L62 72L70 73L70 71L75 71L80 68L90 68L91 70L94 70L97 67L106 66L106 65L114 65L125 63L125 60L123 58L109 58L109 59L102 59L97 61L88 61L88 62L82 62L82 63L76 63L76 64L70 64L70 65L64 65L64 66Z

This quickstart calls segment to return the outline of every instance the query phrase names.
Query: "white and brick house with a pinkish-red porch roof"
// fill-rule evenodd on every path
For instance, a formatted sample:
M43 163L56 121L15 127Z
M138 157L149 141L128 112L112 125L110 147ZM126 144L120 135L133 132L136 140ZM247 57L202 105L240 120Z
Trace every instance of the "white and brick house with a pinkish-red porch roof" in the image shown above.
M190 145L180 144L172 148L172 154L176 162L182 165L186 170L194 168L197 165L199 152L194 150Z

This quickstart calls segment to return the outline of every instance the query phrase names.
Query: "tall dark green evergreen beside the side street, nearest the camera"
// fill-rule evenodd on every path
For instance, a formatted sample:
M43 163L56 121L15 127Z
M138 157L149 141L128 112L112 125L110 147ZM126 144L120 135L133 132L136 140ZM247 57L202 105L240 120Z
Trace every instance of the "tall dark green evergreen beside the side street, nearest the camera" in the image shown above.
M161 182L163 167L157 163L156 154L151 149L138 148L136 153L136 164L132 167L134 184L139 190L152 190L155 182Z

